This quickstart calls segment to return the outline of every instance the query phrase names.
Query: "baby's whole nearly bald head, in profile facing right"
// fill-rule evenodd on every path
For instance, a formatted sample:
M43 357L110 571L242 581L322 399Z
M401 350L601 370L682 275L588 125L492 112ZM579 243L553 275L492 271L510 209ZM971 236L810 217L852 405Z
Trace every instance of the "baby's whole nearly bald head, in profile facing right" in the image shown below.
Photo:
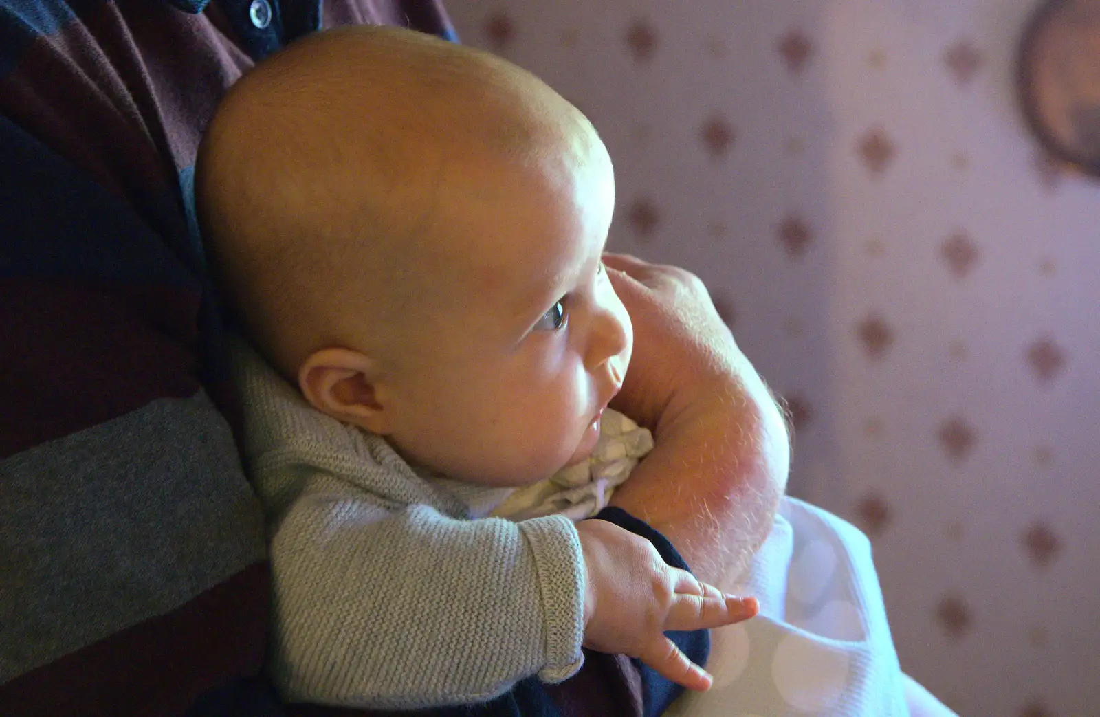
M612 163L528 73L410 31L318 33L219 107L196 196L248 337L414 464L525 485L591 452L629 317Z

